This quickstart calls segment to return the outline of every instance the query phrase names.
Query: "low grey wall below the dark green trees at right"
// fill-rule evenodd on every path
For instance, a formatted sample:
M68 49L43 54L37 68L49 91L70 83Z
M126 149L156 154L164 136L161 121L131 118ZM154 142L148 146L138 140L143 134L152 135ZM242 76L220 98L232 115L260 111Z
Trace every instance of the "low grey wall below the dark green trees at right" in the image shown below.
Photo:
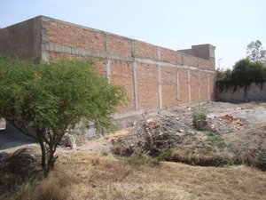
M244 88L240 88L239 91L233 92L233 90L216 92L216 100L226 102L244 102L244 101L255 101L255 100L266 100L266 83L262 87L260 85L251 84L250 88L245 96Z

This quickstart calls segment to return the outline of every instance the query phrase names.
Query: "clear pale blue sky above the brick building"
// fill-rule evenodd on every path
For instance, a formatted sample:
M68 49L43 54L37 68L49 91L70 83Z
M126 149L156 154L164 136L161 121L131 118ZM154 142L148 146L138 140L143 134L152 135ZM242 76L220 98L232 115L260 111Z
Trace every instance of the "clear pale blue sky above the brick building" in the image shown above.
M37 15L173 50L213 44L223 68L252 41L266 49L266 0L0 0L0 28Z

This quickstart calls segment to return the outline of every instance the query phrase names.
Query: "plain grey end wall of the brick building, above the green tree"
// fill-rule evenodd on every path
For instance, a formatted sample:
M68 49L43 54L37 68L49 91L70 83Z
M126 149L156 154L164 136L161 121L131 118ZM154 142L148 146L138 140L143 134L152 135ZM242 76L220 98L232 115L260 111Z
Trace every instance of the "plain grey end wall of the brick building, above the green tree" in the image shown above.
M40 59L41 17L0 29L0 53L22 59Z

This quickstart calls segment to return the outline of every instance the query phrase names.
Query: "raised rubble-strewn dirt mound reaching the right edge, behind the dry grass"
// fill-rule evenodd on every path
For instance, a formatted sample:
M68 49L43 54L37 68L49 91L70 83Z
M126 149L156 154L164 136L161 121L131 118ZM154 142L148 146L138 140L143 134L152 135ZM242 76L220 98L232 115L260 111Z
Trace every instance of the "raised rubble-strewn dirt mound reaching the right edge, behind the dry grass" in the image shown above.
M193 113L199 109L207 115L201 131L195 129L192 122ZM144 116L128 132L113 137L112 141L114 146L126 148L120 152L124 156L141 148L150 156L177 149L185 151L187 156L236 156L249 152L253 156L260 154L264 159L265 130L263 103L207 102Z

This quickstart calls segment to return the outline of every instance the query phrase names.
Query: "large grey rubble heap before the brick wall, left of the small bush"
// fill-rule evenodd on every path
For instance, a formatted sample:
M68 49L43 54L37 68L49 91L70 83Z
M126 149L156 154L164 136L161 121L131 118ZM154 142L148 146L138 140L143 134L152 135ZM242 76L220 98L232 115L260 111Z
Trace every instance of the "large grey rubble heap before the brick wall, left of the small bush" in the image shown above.
M127 135L113 139L113 143L123 144L128 148L125 152L129 155L141 148L150 156L158 156L161 151L176 147L184 133L191 128L190 118L173 114L145 116Z

